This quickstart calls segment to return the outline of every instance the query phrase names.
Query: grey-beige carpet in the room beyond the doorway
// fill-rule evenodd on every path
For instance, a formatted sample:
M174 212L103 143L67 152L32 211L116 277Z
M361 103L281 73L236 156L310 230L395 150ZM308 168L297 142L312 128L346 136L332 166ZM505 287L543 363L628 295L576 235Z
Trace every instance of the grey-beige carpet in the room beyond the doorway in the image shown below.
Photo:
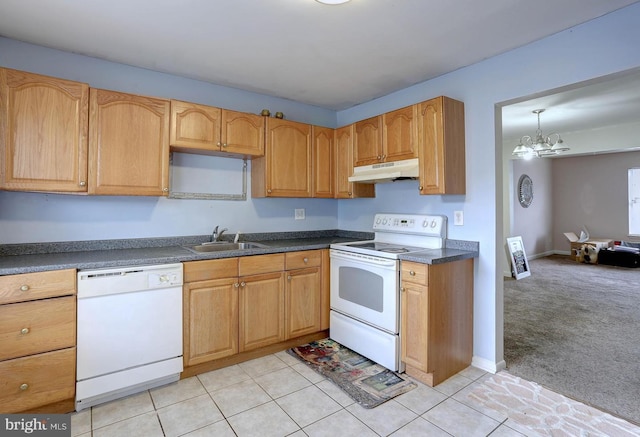
M554 255L504 282L507 370L640 424L640 269Z

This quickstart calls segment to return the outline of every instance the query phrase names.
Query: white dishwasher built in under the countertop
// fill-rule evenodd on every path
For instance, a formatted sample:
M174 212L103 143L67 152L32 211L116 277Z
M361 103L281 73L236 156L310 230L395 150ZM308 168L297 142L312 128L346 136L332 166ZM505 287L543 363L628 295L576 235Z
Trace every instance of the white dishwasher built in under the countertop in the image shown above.
M78 272L76 411L180 378L182 264Z

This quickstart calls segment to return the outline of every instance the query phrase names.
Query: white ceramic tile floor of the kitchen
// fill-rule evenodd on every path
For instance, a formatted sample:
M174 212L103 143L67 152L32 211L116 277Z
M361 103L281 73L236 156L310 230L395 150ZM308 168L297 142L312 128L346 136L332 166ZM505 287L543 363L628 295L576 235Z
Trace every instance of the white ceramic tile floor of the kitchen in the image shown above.
M71 429L82 437L640 435L536 384L473 367L365 409L285 351L74 413Z

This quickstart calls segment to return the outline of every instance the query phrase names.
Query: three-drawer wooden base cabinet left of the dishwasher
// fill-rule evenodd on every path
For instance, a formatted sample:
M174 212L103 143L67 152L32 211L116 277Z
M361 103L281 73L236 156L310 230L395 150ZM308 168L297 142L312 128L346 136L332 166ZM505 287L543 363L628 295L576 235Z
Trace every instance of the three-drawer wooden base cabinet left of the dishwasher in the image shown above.
M75 269L0 276L0 412L73 411L75 293Z

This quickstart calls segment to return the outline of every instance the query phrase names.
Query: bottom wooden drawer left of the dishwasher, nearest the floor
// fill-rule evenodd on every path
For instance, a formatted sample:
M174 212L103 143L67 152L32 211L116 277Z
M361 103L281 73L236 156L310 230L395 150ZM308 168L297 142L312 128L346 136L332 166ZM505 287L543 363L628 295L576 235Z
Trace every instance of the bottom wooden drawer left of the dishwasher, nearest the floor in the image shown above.
M76 348L0 362L0 411L17 413L73 398Z

